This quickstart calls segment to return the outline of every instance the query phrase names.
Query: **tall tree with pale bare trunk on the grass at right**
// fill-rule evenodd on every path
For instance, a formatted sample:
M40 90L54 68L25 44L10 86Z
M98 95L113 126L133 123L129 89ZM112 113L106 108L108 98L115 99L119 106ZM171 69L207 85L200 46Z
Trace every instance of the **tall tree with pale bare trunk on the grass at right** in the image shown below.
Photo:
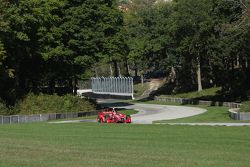
M207 45L215 24L210 16L211 5L212 3L206 0L199 2L180 0L175 4L173 14L174 25L176 25L175 35L179 43L177 50L184 59L189 57L191 70L192 68L196 70L198 91L203 88L202 66L210 56Z

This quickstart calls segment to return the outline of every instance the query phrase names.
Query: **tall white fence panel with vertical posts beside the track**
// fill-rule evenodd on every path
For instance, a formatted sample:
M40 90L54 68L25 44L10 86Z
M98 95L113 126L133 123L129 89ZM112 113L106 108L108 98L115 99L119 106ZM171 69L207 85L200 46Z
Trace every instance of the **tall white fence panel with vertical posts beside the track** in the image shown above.
M133 98L133 78L131 77L97 77L91 78L92 92Z

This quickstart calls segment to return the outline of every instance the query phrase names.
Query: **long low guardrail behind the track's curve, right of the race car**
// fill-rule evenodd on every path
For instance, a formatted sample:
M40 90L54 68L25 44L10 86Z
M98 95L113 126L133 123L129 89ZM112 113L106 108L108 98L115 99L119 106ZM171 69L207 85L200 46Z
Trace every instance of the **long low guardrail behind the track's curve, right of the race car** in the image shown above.
M196 100L196 99L186 99L186 98L172 98L172 97L158 97L154 98L156 101L162 102L173 102L173 103L180 103L180 104L200 104L200 105L207 105L207 106L223 106L229 108L240 108L240 103L234 102L215 102L215 101L205 101L205 100Z

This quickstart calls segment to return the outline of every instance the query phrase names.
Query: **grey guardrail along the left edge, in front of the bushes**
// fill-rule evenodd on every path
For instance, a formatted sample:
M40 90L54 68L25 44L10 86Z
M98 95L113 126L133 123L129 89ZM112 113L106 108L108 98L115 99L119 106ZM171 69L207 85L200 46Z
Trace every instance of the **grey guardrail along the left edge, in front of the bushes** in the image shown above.
M34 115L0 115L0 124L16 124L16 123L30 123L42 122L56 119L68 119L87 117L96 115L98 111L91 112L68 112L68 113L52 113L52 114L34 114Z

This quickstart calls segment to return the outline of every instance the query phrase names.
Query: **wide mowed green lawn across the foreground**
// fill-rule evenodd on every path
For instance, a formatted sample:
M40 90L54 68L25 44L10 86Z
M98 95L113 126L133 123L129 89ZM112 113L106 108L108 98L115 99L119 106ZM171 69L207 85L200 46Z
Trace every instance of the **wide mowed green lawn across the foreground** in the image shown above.
M0 126L1 167L246 167L250 127L31 123Z

